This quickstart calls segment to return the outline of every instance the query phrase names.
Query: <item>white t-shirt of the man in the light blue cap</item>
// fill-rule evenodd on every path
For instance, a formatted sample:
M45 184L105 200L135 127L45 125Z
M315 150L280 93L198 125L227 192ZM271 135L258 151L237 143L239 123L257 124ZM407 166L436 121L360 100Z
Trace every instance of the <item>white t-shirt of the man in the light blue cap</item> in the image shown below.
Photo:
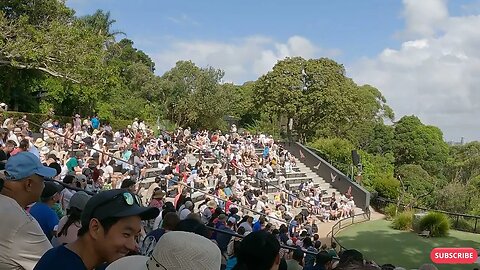
M52 248L38 222L15 200L0 194L0 268L27 269Z

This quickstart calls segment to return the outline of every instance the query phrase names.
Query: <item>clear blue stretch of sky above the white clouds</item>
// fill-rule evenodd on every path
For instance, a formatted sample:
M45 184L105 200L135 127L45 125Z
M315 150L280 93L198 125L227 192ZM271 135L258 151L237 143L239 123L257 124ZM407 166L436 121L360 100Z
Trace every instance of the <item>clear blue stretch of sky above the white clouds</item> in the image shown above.
M233 2L233 1L232 1ZM155 52L171 39L231 41L261 35L286 40L307 37L323 48L340 50L339 61L373 56L399 41L401 1L154 1L70 0L77 15L108 10L115 29L136 45Z

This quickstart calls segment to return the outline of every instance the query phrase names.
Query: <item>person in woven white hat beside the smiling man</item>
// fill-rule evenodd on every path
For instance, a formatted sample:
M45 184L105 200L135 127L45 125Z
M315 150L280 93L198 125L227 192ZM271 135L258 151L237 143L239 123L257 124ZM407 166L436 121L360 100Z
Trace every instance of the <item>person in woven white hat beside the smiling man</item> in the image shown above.
M152 256L128 256L107 270L213 270L220 269L220 249L209 239L173 231L160 237Z

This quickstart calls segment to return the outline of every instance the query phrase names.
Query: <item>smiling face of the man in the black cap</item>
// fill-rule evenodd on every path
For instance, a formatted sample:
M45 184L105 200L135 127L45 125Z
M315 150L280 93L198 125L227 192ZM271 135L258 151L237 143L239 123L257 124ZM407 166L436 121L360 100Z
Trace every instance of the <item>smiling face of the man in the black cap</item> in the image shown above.
M101 224L95 219L92 220L90 226L93 226L91 229L102 259L111 263L135 250L136 238L141 232L141 222L138 216L122 218L105 233Z

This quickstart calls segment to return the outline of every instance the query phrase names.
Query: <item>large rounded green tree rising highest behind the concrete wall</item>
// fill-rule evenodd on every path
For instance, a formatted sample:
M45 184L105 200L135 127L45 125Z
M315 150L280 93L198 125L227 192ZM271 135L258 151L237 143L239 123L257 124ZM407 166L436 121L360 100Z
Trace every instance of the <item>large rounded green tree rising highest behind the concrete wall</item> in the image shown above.
M328 58L279 61L257 80L254 96L260 110L278 122L293 119L302 141L341 137L361 145L374 123L393 118L380 91L357 86L342 65Z

